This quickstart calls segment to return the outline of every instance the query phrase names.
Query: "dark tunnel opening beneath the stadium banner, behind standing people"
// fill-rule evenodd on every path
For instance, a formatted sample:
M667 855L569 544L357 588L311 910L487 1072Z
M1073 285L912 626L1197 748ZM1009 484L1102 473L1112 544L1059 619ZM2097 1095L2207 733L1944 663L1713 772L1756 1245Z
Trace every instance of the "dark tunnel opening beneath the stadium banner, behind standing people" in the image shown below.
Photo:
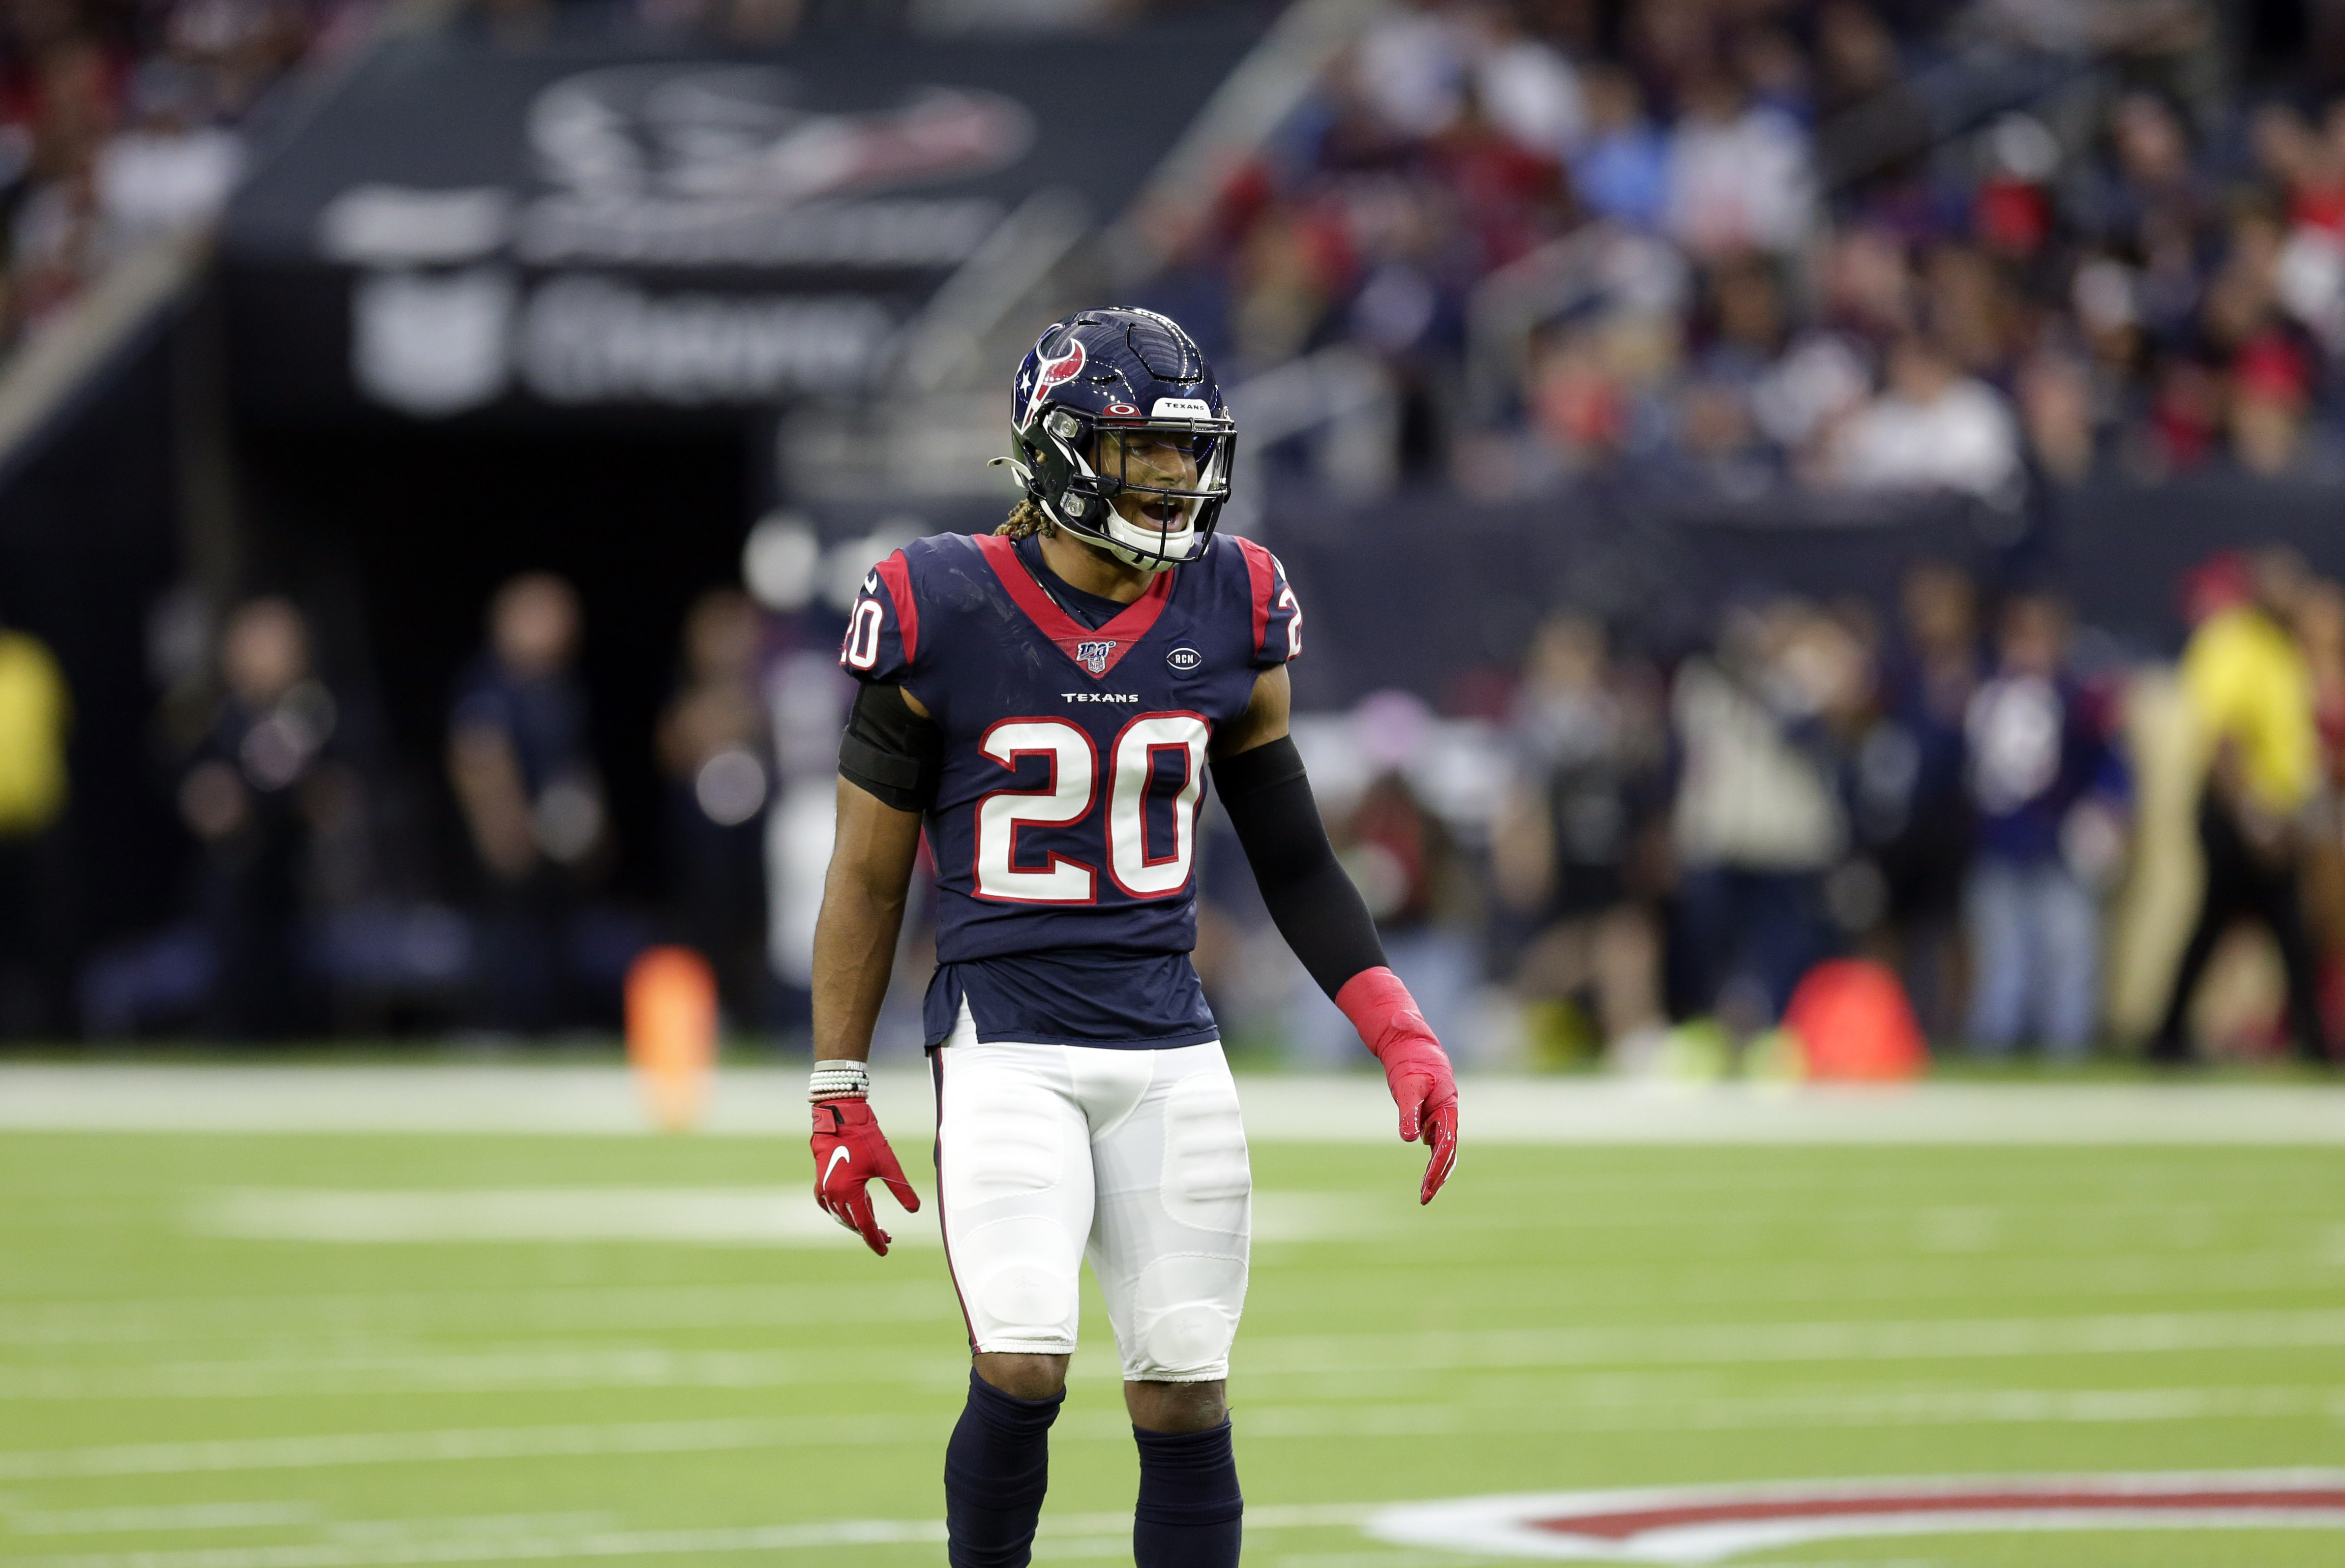
M312 616L319 661L378 752L415 893L462 886L469 855L446 783L448 720L485 612L518 572L553 572L584 612L589 691L614 860L600 879L657 902L659 710L692 602L736 586L760 499L750 424L460 429L392 422L251 431L239 443L253 560ZM427 863L415 863L424 855ZM427 874L429 872L429 874Z

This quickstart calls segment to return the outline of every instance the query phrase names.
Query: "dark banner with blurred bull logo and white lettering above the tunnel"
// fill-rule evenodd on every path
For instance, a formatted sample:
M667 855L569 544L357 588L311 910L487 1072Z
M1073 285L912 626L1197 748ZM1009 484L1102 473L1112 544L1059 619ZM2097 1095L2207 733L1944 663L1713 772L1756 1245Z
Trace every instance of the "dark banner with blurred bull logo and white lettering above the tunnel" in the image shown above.
M870 391L1020 204L1123 211L1250 42L394 40L230 211L239 403L453 420Z

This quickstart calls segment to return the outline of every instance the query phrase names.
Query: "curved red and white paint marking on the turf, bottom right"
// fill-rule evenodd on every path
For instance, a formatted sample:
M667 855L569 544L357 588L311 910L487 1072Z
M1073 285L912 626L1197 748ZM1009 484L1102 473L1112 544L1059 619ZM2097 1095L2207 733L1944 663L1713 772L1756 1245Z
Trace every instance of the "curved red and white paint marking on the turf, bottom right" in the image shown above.
M1459 1498L1386 1509L1400 1545L1611 1563L1721 1563L1850 1535L2333 1528L2345 1472L1815 1481Z

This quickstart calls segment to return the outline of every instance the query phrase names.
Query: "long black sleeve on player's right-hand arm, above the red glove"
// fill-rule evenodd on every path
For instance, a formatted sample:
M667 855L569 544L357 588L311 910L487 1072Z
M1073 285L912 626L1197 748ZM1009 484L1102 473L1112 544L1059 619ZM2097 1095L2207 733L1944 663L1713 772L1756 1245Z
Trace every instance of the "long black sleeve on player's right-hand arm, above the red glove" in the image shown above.
M1334 996L1360 970L1381 968L1377 921L1337 865L1294 738L1280 736L1215 762L1212 785L1222 792L1222 809L1238 830L1278 935L1318 987Z

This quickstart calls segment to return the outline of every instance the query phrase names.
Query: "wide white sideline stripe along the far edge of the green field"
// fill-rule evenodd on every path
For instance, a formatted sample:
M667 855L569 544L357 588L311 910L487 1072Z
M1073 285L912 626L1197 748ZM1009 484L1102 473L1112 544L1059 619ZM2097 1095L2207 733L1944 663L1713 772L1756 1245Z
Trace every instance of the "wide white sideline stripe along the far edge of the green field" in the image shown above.
M929 1078L877 1073L898 1144L926 1141ZM1372 1073L1241 1078L1255 1141L1379 1144L1393 1106ZM2345 1088L1923 1083L1681 1088L1468 1078L1468 1139L1491 1144L2345 1144ZM706 1132L802 1137L795 1066L727 1066ZM0 1064L0 1130L633 1134L650 1123L619 1066Z

